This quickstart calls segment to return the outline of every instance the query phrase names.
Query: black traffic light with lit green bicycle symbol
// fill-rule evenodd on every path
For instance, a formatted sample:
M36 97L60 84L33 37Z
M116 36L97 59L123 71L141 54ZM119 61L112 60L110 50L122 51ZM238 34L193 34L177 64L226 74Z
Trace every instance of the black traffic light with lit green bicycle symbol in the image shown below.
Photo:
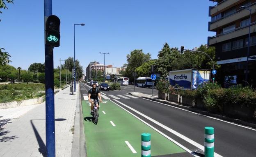
M55 15L50 15L45 23L45 44L59 47L59 24L60 20Z

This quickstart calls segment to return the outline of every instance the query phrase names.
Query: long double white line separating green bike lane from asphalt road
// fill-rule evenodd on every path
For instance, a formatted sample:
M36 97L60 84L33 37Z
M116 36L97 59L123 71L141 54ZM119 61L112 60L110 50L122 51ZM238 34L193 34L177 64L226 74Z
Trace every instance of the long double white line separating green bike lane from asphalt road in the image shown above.
M110 100L110 101L112 101L112 100ZM181 139L184 139L185 141L189 142L190 144L196 146L197 148L199 148L199 149L201 149L201 150L204 150L204 146L202 146L201 144L198 144L197 142L194 142L192 139L189 139L189 138L185 137L184 135L182 135L182 134L176 132L175 130L172 130L171 128L169 128L169 127L167 127L167 126L165 126L165 125L163 125L163 124L157 122L156 120L154 120L154 119L152 119L152 118L150 118L150 117L144 115L143 113L140 113L139 111L137 111L137 110L131 108L130 106L127 106L126 104L123 104L123 103L119 102L118 100L114 100L114 101L118 102L119 104L121 104L121 105L123 105L123 106L126 106L126 107L129 108L130 110L132 110L132 111L134 111L135 113L137 113L137 114L139 114L139 115L145 117L146 119L149 119L151 122L157 124L158 126L161 126L161 127L164 128L165 130L168 130L170 133L173 133L174 135L180 137ZM113 101L112 101L112 102L113 102ZM116 103L115 103L115 104L116 104ZM117 104L117 105L118 105L118 104ZM119 105L118 105L118 106L119 106ZM121 106L119 106L119 107L121 107ZM123 108L123 107L121 107L121 108ZM126 110L125 108L123 108L123 109ZM126 111L127 111L127 110L126 110ZM129 112L129 111L127 111L127 112ZM130 112L129 112L129 113L130 113ZM133 113L130 113L130 114L133 115ZM133 116L135 116L135 115L133 115ZM135 116L135 117L137 117L137 116ZM139 117L137 117L137 119L139 119L139 120L141 120L142 122L144 122L144 121L143 121L142 119L140 119ZM157 130L156 128L154 128L154 127L151 126L150 124L148 124L148 123L146 123L146 122L144 122L144 123L145 123L146 125L150 126L151 128L153 128L154 130L156 130L158 133L160 133L160 134L162 134L163 136L165 136L167 139L171 140L172 142L174 142L175 144L177 144L178 146L180 146L181 148L183 148L184 150L186 150L187 152L189 152L189 153L191 153L192 155L194 155L194 153L193 153L191 150L189 150L189 149L186 148L185 146L179 144L179 143L176 142L174 139L171 139L171 137L165 135L165 134L162 133L160 130ZM194 156L196 156L196 155L194 155ZM221 155L219 155L219 154L217 154L217 153L214 153L214 156L215 156L215 157L222 157Z

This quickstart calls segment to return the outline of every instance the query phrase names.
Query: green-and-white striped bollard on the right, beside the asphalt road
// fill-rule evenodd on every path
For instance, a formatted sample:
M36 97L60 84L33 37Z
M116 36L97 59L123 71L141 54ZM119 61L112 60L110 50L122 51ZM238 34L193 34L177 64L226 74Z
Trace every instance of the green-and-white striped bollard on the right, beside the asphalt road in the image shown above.
M204 156L214 157L214 128L204 128Z

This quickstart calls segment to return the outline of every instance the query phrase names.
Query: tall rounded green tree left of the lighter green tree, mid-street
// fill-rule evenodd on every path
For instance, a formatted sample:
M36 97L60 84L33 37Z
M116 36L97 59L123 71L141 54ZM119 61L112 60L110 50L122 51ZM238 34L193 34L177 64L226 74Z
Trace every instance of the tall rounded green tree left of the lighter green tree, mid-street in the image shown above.
M136 68L141 66L143 63L148 62L151 59L151 54L144 54L142 52L142 49L133 50L130 52L130 54L126 56L126 59L128 64L124 76L129 77L130 80L133 80L134 77L132 73L135 71Z

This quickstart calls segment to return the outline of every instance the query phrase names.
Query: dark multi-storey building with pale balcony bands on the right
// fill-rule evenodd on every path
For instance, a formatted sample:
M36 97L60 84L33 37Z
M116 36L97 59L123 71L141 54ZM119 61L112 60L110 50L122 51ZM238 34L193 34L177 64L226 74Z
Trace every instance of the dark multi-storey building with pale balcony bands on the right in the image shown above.
M208 37L208 46L215 46L217 64L221 65L219 82L223 86L245 84L248 65L248 83L256 85L256 0L210 0L217 2L209 7L208 31L216 32ZM240 8L244 6L246 9ZM247 48L250 24L250 45L247 64Z

